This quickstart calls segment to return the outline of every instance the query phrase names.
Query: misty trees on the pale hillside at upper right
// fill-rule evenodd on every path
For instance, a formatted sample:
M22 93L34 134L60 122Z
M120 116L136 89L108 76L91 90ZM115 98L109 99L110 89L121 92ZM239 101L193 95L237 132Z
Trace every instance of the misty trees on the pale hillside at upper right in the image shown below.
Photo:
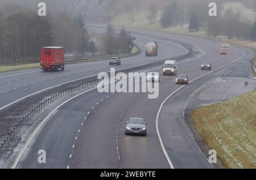
M224 10L221 3L218 3L218 15L208 15L208 3L192 5L188 8L180 7L178 1L172 1L164 6L160 17L160 25L163 28L182 26L189 24L188 30L199 31L200 28L207 32L209 37L226 36L230 40L237 38L241 40L256 41L256 18L255 22L249 22L242 18L242 14L228 8ZM154 3L148 8L148 20L155 21L155 16L160 10Z

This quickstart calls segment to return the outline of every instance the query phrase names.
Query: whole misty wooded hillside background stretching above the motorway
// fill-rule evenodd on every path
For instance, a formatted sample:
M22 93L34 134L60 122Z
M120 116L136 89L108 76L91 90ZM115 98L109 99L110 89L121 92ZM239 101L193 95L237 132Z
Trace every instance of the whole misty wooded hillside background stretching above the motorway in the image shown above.
M44 0L46 17L37 15L39 2L0 0L0 59L38 57L42 46L52 45L64 46L65 52L96 53L89 22L256 41L255 0L216 0L216 17L208 15L208 0ZM125 29L113 33L109 25L101 38L105 52L133 46Z

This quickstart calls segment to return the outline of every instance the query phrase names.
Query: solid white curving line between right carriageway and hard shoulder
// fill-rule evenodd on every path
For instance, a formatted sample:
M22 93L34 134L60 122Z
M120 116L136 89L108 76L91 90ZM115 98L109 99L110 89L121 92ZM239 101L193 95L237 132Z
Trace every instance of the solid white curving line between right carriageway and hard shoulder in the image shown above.
M237 49L238 49L238 48L237 48ZM212 73L212 72L214 72L214 71L217 71L217 70L219 70L219 69L221 69L221 68L223 68L223 67L226 67L226 66L230 65L231 63L237 62L237 61L239 61L240 59L242 59L242 58L245 56L245 52L243 52L241 49L238 49L238 50L240 50L240 51L243 53L242 57L236 59L235 61L229 62L229 63L227 63L227 64L224 65L224 66L218 67L218 68L216 68L216 69L214 69L214 70L212 70L212 71L210 71L210 72L208 72L208 73L206 73L206 74L203 74L203 75L201 75L201 76L199 76L199 77L197 77L197 78L191 80L190 83L193 82L193 81L195 81L195 80L197 80L197 79L199 79L199 78L201 78L201 77L203 77L203 76L205 76L205 75L208 75L208 74L210 74L210 73ZM156 132L157 132L157 134L158 134L158 139L159 139L160 145L161 145L161 147L162 147L162 149L163 149L164 155L166 156L166 159L167 159L168 164L170 165L171 169L174 169L174 166L172 165L172 162L171 162L171 160L170 160L170 157L168 156L168 153L166 152L166 148L164 147L162 138L161 138L161 136L160 136L159 127L158 127L158 120L159 120L159 114L160 114L160 112L161 112L161 110L162 110L162 108L163 108L164 103L168 100L168 98L170 98L172 95L174 95L174 93L176 93L177 91L179 91L179 90L180 90L181 88L183 88L183 87L185 87L185 85L182 85L180 88L178 88L178 89L176 89L174 92L172 92L172 93L162 102L162 104L160 105L160 108L159 108L159 110L158 110L158 113L156 114L156 121L155 121ZM195 142L195 141L193 141L193 142Z

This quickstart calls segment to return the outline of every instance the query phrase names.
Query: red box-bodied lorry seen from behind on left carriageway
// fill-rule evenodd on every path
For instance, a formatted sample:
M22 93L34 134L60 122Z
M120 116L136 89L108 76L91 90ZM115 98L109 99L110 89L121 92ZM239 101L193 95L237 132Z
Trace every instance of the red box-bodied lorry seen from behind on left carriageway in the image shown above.
M64 48L55 46L43 47L40 68L45 71L64 70Z

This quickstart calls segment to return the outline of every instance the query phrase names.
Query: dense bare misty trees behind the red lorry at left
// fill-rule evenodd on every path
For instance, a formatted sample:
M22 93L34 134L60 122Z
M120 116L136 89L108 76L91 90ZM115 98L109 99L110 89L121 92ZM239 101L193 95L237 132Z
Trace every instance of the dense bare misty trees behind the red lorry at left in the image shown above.
M73 18L59 12L40 17L16 5L4 7L0 9L0 59L39 57L43 46L63 46L65 52L96 52L81 15Z

